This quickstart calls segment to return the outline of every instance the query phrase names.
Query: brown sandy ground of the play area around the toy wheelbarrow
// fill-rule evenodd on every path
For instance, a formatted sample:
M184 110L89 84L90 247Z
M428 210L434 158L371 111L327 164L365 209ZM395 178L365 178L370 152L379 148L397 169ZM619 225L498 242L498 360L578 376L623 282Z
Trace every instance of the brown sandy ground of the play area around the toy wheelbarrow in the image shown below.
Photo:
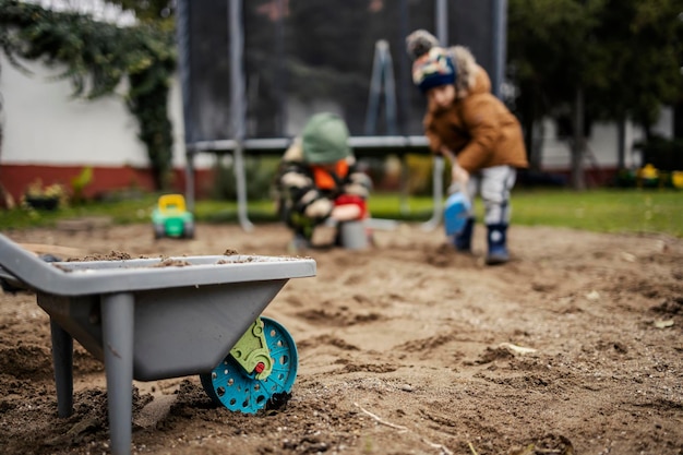
M287 255L289 240L279 225L4 234L63 259ZM419 225L301 253L317 276L264 312L297 343L289 402L242 415L199 376L135 381L132 452L683 454L683 241L513 226L513 261L488 267L483 234L474 255ZM0 294L0 452L109 452L104 366L74 346L74 414L60 419L48 316L32 294Z

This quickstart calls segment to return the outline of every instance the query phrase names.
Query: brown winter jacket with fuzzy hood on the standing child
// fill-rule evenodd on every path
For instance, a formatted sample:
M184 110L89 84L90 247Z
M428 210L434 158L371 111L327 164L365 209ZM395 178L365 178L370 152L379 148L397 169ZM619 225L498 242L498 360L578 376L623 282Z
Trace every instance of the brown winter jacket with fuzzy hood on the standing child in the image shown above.
M454 46L448 51L458 72L456 99L443 110L428 106L423 124L430 148L440 153L445 145L470 173L501 165L526 168L519 121L491 94L486 70L477 64L468 49Z

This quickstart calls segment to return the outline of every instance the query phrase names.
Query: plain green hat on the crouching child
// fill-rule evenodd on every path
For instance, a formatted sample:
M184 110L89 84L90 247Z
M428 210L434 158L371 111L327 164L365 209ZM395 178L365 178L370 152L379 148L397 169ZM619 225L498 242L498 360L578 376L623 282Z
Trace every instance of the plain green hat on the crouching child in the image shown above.
M349 130L336 113L316 113L301 133L303 159L311 164L332 164L351 154Z

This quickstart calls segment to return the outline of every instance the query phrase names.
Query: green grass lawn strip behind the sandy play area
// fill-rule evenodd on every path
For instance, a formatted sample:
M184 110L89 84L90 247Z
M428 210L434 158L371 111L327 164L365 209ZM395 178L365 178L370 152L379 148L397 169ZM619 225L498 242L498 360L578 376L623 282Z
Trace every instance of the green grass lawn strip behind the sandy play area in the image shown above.
M53 226L62 218L110 216L115 223L149 223L156 203L153 194L116 202L87 203L53 212L15 208L0 212L0 229ZM476 201L478 217L481 201ZM683 191L675 190L516 190L513 194L513 224L562 226L600 232L663 232L683 238ZM376 218L422 221L431 217L430 196L403 199L398 194L373 194L370 211ZM232 201L197 201L200 221L236 223L237 204ZM254 223L274 221L272 201L249 204Z

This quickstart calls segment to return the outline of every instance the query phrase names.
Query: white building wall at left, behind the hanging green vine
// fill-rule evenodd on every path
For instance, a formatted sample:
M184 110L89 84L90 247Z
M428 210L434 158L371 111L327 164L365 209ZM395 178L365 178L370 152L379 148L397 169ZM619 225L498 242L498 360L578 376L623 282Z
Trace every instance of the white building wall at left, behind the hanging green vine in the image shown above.
M24 62L33 75L15 69L0 52L0 95L4 139L0 159L13 165L77 165L145 167L137 121L128 110L119 87L116 95L95 100L72 98L68 80L56 81L62 69ZM184 166L182 109L179 84L169 99L173 124L175 166Z

